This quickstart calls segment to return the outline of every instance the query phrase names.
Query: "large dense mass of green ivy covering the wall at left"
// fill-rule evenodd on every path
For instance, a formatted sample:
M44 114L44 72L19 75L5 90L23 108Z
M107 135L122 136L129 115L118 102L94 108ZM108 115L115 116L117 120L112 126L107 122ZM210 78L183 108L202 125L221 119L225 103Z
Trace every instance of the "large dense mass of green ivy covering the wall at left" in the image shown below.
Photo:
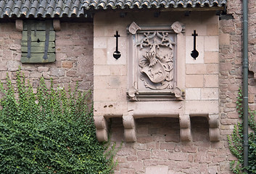
M8 77L0 84L0 173L113 173L115 146L96 140L90 92L48 89L41 78L34 94L20 70L16 86Z

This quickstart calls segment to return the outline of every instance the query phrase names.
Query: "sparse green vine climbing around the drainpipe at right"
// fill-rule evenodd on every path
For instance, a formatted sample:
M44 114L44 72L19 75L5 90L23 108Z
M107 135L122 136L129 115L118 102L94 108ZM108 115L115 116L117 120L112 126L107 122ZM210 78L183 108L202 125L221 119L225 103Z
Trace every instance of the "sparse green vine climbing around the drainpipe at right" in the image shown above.
M243 96L241 89L236 101L236 109L239 112L239 117L243 119ZM248 173L256 173L256 123L255 111L249 109L248 125L249 125L249 156L248 156ZM244 170L244 148L243 148L243 123L237 123L231 136L228 136L228 145L232 154L237 158L231 162L231 170L233 173L243 173Z

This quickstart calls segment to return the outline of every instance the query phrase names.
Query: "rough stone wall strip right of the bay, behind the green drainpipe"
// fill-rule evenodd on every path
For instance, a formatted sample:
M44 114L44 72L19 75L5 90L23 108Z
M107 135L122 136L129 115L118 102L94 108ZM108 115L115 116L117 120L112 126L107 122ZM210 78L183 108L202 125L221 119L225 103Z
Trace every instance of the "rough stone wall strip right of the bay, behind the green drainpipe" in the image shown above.
M253 0L248 1L248 49L249 49L249 108L255 110L255 5ZM233 19L220 20L220 119L221 135L226 141L226 136L232 133L234 125L241 122L236 112L236 97L242 87L242 3L230 0L227 4L227 14ZM223 148L228 151L228 144ZM234 159L228 152L227 159Z

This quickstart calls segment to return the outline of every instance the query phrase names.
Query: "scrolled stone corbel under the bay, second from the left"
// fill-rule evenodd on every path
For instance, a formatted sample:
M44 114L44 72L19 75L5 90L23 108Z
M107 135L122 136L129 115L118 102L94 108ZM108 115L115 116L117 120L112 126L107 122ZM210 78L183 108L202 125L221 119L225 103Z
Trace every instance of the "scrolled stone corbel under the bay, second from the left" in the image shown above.
M136 141L136 125L131 112L123 114L123 127L126 142Z

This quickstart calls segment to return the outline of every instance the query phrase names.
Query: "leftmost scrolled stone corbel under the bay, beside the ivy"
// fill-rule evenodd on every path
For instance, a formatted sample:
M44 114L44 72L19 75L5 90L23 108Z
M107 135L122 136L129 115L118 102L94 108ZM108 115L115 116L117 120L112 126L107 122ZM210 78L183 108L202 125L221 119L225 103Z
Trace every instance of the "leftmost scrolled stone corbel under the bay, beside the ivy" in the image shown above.
M99 142L107 141L107 121L104 116L95 116L96 137Z

